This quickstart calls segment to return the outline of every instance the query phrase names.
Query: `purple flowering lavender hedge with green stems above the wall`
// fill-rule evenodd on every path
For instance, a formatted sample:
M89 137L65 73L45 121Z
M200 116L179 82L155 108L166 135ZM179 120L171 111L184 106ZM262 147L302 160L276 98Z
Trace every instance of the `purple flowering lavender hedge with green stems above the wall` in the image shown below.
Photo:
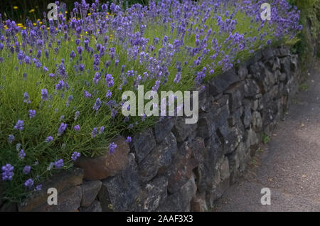
M6 199L20 201L41 181L83 156L117 151L112 138L156 117L123 117L122 92L191 90L267 45L292 40L299 11L272 1L151 1L125 11L76 2L58 20L0 15L0 166ZM65 11L64 4L58 5Z

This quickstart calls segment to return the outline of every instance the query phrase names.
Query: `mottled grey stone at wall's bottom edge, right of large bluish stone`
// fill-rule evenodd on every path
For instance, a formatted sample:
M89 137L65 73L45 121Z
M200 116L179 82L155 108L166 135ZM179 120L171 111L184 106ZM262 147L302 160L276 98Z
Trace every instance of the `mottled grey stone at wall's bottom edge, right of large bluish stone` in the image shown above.
M144 186L143 208L145 211L154 211L167 197L168 179L164 176L154 178Z

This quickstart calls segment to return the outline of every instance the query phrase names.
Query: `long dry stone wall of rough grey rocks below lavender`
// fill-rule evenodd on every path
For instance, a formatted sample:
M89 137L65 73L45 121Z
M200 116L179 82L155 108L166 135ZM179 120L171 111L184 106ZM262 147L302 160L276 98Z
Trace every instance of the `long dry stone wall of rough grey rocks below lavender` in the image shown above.
M162 119L116 152L80 158L18 211L205 211L242 176L263 134L282 119L299 84L297 55L267 48L199 87L199 119ZM58 205L46 188L58 189Z

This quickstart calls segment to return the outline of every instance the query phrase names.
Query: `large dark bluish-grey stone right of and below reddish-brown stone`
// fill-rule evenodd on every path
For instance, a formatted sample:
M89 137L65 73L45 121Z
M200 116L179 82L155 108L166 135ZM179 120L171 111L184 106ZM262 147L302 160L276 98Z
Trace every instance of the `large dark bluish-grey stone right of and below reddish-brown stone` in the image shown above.
M142 209L138 205L141 195L137 163L134 156L129 154L127 167L119 175L103 180L97 197L102 211L138 211Z

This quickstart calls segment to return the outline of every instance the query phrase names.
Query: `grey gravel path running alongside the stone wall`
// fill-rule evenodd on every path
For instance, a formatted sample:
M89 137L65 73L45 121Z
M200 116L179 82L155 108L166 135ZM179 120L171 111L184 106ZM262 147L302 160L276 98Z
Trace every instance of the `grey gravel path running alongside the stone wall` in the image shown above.
M301 87L270 143L215 211L320 211L320 63ZM271 205L260 203L262 188L270 188Z

